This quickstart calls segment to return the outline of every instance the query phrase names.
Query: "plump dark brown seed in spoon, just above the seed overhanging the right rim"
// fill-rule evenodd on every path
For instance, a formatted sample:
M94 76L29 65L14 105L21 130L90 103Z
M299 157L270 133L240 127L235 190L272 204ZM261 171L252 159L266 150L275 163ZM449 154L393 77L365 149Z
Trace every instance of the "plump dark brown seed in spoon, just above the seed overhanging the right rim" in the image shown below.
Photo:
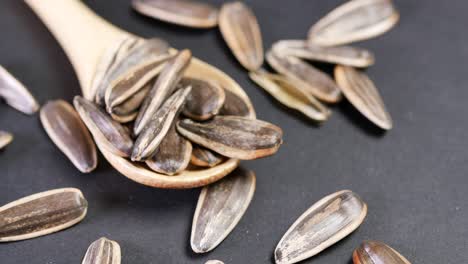
M203 121L217 115L224 104L224 89L214 82L194 78L183 78L182 87L191 86L182 113L195 120Z

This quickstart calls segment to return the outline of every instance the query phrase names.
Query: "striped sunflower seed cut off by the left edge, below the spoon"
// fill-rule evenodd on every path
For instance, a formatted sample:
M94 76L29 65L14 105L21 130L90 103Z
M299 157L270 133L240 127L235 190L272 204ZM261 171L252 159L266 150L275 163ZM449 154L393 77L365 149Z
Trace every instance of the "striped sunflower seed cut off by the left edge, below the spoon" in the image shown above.
M30 239L77 224L88 202L80 190L64 188L33 194L0 207L0 242Z

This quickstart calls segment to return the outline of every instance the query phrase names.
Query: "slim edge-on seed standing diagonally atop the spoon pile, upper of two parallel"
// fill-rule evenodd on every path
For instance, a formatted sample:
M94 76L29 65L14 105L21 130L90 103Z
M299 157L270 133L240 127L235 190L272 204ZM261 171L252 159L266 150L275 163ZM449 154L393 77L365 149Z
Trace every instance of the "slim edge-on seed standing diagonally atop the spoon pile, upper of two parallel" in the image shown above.
M176 89L177 83L182 78L191 58L192 53L190 50L182 50L166 63L149 95L143 101L133 128L135 135L140 134L164 100Z

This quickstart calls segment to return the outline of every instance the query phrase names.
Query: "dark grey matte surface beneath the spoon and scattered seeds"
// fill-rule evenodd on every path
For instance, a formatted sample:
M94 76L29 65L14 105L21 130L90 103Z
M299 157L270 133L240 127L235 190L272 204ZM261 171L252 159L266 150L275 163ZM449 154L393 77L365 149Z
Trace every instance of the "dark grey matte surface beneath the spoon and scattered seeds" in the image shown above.
M380 133L347 102L321 127L286 109L247 77L218 30L192 30L142 17L129 0L86 1L99 15L136 34L167 39L223 69L244 87L259 118L284 129L273 157L244 163L257 174L253 202L213 252L189 247L199 190L158 190L115 172L101 157L80 174L51 143L38 115L0 104L0 128L15 134L0 152L0 204L58 187L80 188L89 200L83 222L32 240L1 244L0 263L81 263L88 245L117 240L123 263L272 263L288 227L323 196L351 189L369 205L363 225L304 263L351 263L364 239L384 241L413 263L468 262L468 3L397 1L401 21L388 34L358 46L372 50L368 70L394 120ZM222 1L214 1L222 2ZM260 22L264 46L304 38L309 26L342 1L247 1ZM0 3L0 63L40 103L80 93L73 69L54 38L23 1Z

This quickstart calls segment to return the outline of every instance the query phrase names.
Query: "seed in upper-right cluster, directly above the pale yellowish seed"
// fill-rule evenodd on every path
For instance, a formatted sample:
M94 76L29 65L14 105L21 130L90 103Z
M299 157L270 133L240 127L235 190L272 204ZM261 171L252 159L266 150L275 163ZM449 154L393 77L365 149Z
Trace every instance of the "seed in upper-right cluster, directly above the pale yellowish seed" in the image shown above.
M341 92L336 83L328 75L301 59L281 57L270 51L267 53L267 61L277 72L300 83L305 93L328 103L335 103L341 99Z

